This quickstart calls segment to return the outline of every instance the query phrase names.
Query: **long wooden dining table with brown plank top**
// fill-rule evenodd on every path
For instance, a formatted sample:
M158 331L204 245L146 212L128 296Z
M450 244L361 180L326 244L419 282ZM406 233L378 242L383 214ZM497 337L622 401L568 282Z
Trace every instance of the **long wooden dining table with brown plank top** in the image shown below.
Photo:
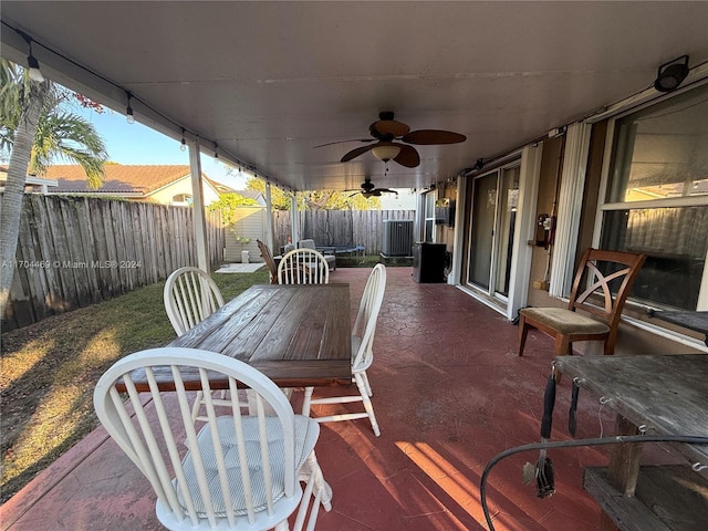
M351 385L348 284L252 285L167 346L226 354L281 387ZM201 388L196 371L181 373L188 391ZM160 391L175 391L169 367L154 374ZM132 378L137 391L149 391L140 372ZM209 384L228 388L216 375Z

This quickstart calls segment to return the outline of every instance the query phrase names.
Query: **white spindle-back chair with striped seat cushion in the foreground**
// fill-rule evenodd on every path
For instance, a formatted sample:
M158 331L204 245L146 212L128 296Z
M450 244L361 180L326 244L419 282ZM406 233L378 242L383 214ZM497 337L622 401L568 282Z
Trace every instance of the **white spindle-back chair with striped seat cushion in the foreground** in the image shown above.
M168 367L175 393L158 391L155 367ZM136 369L147 375L152 400L136 391L131 379ZM186 369L198 372L205 391L208 420L199 430L181 378ZM251 389L252 415L242 412L237 398L228 416L216 415L209 386L215 374L228 381L232 397L239 388ZM126 386L127 402L115 387L118 382ZM94 407L111 437L150 482L157 518L167 529L283 531L298 509L294 529L302 529L309 513L312 530L320 504L332 508L331 489L314 454L320 426L294 415L278 386L243 362L195 348L142 351L105 372L94 392ZM268 415L267 409L274 413ZM304 492L300 481L305 482Z

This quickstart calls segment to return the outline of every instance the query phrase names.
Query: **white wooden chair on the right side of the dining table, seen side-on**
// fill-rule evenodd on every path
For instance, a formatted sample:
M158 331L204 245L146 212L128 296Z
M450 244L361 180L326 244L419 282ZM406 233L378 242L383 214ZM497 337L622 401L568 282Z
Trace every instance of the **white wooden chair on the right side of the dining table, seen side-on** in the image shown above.
M332 396L323 398L312 398L313 387L305 388L305 395L302 404L302 414L310 415L310 408L313 404L343 404L352 402L362 402L364 412L344 413L331 415L326 417L316 417L317 423L332 423L339 420L353 420L356 418L366 418L372 423L372 428L376 437L381 435L376 416L374 415L374 406L371 397L373 396L372 387L368 383L366 369L374 361L374 334L376 333L376 321L378 312L384 300L384 291L386 290L386 268L383 263L374 266L373 271L368 275L364 294L360 302L356 321L352 330L352 381L356 383L358 395Z

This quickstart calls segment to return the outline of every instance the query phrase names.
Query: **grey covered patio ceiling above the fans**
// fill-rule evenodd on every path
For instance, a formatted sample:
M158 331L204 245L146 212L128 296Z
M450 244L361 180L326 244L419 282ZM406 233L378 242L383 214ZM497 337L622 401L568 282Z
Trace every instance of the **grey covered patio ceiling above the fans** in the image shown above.
M2 56L285 189L420 188L708 60L708 2L0 3ZM467 140L340 163L382 111ZM218 146L218 147L216 147Z

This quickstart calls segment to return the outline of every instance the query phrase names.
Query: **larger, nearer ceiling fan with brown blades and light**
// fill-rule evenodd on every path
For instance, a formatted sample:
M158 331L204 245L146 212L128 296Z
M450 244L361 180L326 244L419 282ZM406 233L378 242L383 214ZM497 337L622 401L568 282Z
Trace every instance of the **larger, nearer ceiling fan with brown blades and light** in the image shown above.
M368 126L368 132L372 138L358 138L357 140L375 142L375 144L352 149L342 157L342 163L352 160L366 152L372 152L379 160L386 163L393 160L407 168L415 168L420 164L420 156L416 148L408 144L458 144L467 139L465 135L452 133L451 131L410 131L410 127L406 124L394 119L394 113L391 111L379 113L378 121Z

